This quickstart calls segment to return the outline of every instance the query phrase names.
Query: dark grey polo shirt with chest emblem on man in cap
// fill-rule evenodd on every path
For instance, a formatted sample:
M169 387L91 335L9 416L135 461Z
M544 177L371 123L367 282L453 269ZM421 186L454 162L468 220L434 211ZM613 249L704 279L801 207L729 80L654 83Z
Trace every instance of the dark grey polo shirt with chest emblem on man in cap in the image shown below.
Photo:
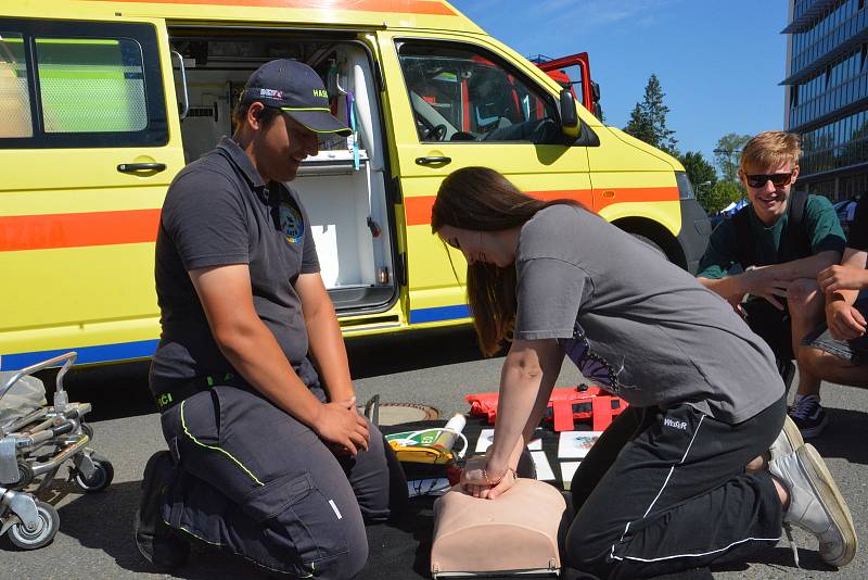
M248 265L256 313L299 378L317 384L294 289L299 274L319 272L307 214L291 189L266 187L239 144L224 137L177 175L163 204L154 268L163 332L151 363L154 393L232 371L188 275L230 264Z

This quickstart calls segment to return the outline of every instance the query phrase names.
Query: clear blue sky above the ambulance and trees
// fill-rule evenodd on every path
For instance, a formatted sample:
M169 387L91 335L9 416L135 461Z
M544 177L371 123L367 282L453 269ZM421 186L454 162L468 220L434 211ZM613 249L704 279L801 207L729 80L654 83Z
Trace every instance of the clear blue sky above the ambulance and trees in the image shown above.
M783 128L789 0L450 0L525 56L587 51L605 123L624 128L653 73L681 152Z

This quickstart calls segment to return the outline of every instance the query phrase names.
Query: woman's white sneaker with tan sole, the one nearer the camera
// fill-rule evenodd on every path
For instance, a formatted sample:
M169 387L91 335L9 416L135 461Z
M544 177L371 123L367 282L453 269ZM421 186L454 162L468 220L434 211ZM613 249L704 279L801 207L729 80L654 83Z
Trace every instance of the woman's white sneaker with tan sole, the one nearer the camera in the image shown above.
M790 494L784 525L793 524L816 535L820 557L827 564L839 568L850 564L858 547L856 529L847 504L817 450L805 444L795 453L773 461L768 470L783 482Z

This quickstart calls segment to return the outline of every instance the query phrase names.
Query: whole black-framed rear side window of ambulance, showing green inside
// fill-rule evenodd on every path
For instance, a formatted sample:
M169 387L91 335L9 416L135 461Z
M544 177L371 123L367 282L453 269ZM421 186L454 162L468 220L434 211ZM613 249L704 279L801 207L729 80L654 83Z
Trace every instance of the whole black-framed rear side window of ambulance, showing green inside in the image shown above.
M0 17L0 149L167 143L156 28Z

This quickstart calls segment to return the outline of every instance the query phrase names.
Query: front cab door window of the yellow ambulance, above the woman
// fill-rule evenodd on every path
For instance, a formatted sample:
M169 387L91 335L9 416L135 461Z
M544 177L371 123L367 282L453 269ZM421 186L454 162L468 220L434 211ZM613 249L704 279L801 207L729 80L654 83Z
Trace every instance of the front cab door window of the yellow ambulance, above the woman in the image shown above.
M405 42L398 58L419 140L558 142L550 98L471 47Z

